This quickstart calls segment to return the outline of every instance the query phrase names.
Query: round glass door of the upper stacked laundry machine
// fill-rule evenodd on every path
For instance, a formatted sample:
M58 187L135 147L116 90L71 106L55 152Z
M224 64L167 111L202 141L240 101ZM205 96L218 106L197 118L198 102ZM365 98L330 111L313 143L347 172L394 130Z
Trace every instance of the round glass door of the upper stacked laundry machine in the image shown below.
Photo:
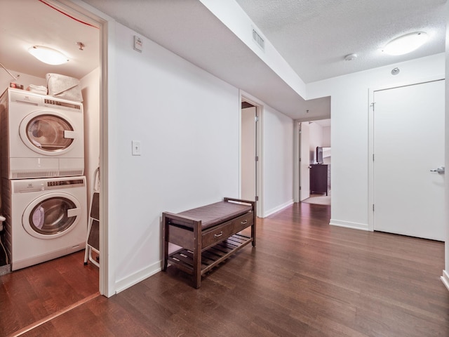
M20 122L19 133L29 149L47 156L69 152L79 137L67 116L49 111L28 114Z

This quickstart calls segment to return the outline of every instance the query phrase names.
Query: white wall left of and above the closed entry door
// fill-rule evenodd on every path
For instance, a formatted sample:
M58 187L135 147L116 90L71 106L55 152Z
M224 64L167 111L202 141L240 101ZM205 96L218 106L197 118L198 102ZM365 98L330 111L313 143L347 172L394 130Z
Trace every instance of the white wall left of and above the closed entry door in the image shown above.
M331 223L368 229L368 90L444 76L444 54L317 81L308 98L331 95ZM399 67L400 74L391 75Z

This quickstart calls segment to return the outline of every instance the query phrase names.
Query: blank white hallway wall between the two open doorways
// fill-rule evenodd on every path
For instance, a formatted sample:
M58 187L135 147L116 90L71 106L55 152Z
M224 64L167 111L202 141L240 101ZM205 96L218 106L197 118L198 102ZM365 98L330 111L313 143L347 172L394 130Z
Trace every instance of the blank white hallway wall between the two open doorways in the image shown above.
M263 111L264 216L293 204L293 119L265 106Z

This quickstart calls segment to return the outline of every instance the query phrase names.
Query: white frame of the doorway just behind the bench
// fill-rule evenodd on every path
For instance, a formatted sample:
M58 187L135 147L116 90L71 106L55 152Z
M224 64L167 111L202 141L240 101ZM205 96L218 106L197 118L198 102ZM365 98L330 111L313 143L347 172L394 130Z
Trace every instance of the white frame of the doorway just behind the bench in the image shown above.
M262 123L263 123L263 111L264 111L264 103L262 101L257 100L257 98L253 97L249 93L246 93L243 90L239 90L239 196L241 197L241 103L248 102L251 105L255 106L255 114L259 117L256 125L255 131L255 149L256 156L259 157L259 160L256 161L255 165L255 185L257 190L257 197L259 200L255 203L256 205L256 214L258 218L264 218L264 191L263 191L263 144L262 144Z

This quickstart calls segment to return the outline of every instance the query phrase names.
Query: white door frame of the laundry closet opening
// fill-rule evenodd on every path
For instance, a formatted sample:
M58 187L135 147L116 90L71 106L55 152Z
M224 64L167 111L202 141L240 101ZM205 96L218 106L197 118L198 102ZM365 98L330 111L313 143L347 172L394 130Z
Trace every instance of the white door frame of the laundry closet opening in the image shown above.
M100 168L102 183L100 184L100 251L102 253L102 263L99 267L99 281L98 289L103 296L110 297L115 294L114 275L109 275L109 228L108 228L108 101L109 88L108 86L108 67L114 60L113 55L108 55L109 39L113 39L113 33L109 29L109 21L100 11L89 6L86 3L77 0L47 0L53 6L60 7L65 11L72 11L73 13L83 15L92 20L100 29ZM98 14L95 14L98 13Z

